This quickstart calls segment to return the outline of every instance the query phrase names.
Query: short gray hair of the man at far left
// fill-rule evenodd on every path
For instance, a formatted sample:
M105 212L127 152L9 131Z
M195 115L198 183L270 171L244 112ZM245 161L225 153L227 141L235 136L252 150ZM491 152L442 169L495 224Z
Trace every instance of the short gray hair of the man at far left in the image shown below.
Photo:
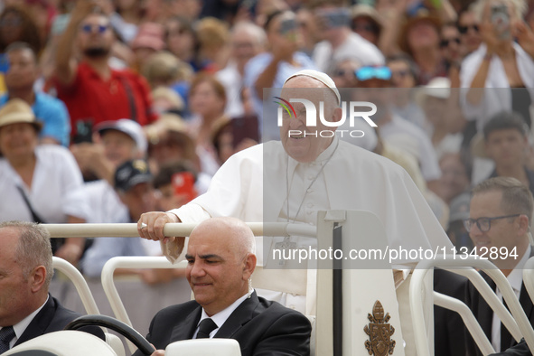
M0 223L0 229L14 229L19 231L19 240L15 250L15 257L21 261L23 278L27 279L33 268L43 266L46 269L44 286L48 288L53 276L52 246L48 230L41 225L28 221L5 221Z

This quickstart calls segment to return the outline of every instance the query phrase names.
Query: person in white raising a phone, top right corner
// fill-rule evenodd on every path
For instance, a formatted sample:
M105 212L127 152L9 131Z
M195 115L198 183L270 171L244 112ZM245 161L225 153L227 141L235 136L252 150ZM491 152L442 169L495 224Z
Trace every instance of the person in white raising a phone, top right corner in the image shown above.
M473 11L480 20L482 44L462 63L461 87L469 88L461 96L465 117L476 120L481 131L493 114L513 110L530 126L533 97L528 88L534 87L534 52L530 50L534 35L521 20L526 4L478 0Z

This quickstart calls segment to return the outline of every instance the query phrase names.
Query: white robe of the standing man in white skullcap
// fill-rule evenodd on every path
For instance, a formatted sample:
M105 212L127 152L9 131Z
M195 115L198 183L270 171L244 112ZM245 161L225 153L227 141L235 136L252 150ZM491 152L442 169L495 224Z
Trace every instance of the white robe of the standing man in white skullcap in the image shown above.
M402 167L337 138L310 164L289 157L278 141L232 155L213 176L208 192L171 212L183 222L232 216L247 222L314 223L317 211L333 209L375 213L385 226L389 248L453 247ZM262 247L257 246L258 260ZM305 275L287 274L285 279L288 285L306 284ZM309 314L300 295L265 295Z

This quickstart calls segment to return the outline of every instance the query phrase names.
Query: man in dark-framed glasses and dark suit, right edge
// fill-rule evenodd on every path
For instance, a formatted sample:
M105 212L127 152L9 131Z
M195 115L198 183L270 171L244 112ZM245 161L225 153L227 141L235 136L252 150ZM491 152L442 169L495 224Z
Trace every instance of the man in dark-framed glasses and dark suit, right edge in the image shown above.
M469 219L464 220L476 254L490 259L501 269L530 323L534 323L534 310L522 284L522 269L533 255L529 245L532 206L532 194L527 186L515 178L495 177L473 188ZM495 290L492 280L483 273L482 276ZM497 289L496 293L502 298L501 291ZM515 344L501 320L472 285L468 286L467 304L495 351L506 350ZM482 355L471 337L467 338L467 348L470 355Z

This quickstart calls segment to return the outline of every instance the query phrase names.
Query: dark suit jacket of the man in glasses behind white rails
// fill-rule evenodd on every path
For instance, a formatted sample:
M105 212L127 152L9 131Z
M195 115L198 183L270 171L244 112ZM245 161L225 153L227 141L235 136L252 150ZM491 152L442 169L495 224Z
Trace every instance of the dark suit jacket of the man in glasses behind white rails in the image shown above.
M530 253L530 257L534 255L534 249ZM487 276L485 273L481 273L484 279L488 282L488 284L492 287L493 290L495 290L496 286L495 283L492 281L492 278ZM473 284L468 283L467 287L467 305L471 307L471 310L473 311L474 317L478 320L480 323L483 332L486 334L488 339L490 341L492 340L492 319L493 319L493 311L490 305L486 303L482 295L478 293L476 288L473 286ZM523 310L525 314L527 315L527 318L529 319L530 323L534 324L534 308L532 305L532 300L529 297L529 293L527 292L527 289L525 288L524 284L521 284L521 290L520 290L520 304L523 307ZM501 334L502 333L508 333L506 330L506 327L504 325L501 325ZM468 335L466 338L466 345L467 345L467 351L469 355L482 355L481 351L478 349L476 344L473 341L473 338ZM509 345L502 345L501 344L501 350L508 349L511 346L516 345L517 342L511 337L511 344Z

